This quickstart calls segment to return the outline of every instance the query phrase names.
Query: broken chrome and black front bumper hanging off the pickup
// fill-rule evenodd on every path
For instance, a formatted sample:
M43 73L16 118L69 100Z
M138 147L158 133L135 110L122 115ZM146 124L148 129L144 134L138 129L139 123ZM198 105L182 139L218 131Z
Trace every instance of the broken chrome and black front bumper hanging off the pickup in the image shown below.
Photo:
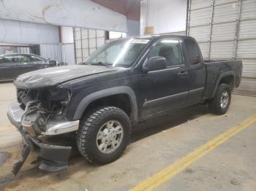
M45 144L42 140L31 136L26 130L27 127L22 125L22 117L24 111L20 108L20 104L17 102L11 104L7 116L15 127L19 130L20 134L23 136L24 145L22 151L22 159L15 162L12 172L17 174L26 157L29 155L32 149L39 153L40 165L39 168L45 171L63 171L67 168L68 159L72 147L57 146L52 144ZM78 129L78 121L74 122L50 122L48 128L42 135L57 135L61 133L68 133Z

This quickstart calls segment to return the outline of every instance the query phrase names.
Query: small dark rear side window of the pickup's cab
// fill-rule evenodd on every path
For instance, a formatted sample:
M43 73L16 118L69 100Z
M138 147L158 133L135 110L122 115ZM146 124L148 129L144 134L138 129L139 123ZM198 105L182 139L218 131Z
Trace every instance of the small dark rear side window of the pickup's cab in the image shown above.
M200 52L197 43L192 39L184 40L184 44L187 50L187 57L190 65L200 63Z

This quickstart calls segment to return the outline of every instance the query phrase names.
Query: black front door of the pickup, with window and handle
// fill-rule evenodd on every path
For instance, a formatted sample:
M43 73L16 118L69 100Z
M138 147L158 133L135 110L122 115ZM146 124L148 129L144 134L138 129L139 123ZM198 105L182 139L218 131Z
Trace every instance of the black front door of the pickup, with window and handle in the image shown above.
M188 69L179 40L159 40L148 53L148 58L154 56L164 57L167 68L140 74L140 117L179 108L184 105L188 94Z

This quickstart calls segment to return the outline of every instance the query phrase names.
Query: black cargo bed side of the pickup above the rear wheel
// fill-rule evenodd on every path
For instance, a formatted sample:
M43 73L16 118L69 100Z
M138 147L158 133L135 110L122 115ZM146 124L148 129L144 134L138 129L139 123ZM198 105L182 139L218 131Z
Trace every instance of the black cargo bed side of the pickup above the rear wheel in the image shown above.
M203 100L213 98L217 82L224 74L230 74L235 77L233 87L238 87L241 80L242 61L204 61L206 66L206 87L203 94Z

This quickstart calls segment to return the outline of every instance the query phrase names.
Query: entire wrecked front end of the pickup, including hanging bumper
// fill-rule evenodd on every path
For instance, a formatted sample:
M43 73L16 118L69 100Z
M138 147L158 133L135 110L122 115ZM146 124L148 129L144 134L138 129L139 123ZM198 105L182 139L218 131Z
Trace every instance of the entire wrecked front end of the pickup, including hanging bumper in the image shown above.
M66 169L71 147L49 144L45 138L78 130L79 120L69 121L65 117L70 90L61 87L18 88L17 98L18 102L11 104L7 115L23 136L24 144L22 159L15 162L13 174L18 173L31 149L39 153L40 169Z

